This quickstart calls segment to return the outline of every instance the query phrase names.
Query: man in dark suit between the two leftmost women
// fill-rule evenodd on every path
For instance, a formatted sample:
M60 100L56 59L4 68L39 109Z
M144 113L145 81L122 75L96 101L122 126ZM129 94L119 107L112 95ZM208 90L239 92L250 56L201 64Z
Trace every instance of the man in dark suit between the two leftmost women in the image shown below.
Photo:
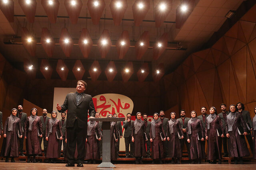
M25 130L25 121L27 119L27 113L23 112L23 107L21 105L18 106L18 114L16 115L18 118L20 118L20 125L22 127L22 133L24 133ZM24 134L22 134L22 138L19 138L19 155L20 156L25 156L23 154L23 142L24 142Z

